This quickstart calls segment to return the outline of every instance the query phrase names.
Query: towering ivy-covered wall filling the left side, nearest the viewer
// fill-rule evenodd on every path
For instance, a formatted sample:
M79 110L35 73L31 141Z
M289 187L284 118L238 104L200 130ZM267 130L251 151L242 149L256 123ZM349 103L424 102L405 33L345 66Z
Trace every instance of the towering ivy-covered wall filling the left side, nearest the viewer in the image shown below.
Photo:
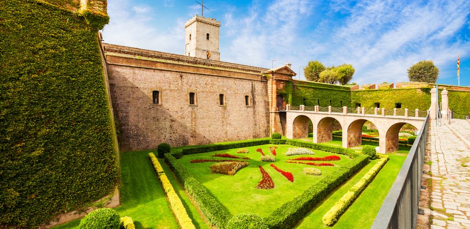
M119 183L97 35L107 20L0 1L0 227L37 227Z

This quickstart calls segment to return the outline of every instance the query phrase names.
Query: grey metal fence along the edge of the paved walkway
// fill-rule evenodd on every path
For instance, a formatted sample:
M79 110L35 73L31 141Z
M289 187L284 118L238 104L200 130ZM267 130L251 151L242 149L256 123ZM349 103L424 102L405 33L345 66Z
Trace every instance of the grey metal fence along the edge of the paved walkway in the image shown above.
M429 116L426 117L371 228L416 228L428 127Z

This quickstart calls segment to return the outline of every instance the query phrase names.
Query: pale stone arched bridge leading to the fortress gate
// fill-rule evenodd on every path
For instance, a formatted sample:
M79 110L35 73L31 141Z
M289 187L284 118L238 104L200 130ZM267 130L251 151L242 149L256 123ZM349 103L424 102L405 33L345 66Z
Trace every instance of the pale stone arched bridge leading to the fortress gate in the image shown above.
M312 109L313 108L313 109ZM312 110L308 110L312 109ZM320 111L322 110L322 111ZM291 139L308 137L308 121L313 125L314 143L322 143L333 140L333 121L336 120L342 129L342 146L344 148L355 147L362 144L362 126L369 121L375 125L379 132L379 152L388 153L398 150L399 132L405 124L414 126L418 131L425 121L419 117L426 113L414 110L413 116L409 116L408 109L403 110L403 115L397 115L394 109L393 115L386 115L385 109L374 109L374 114L366 114L365 108L354 109L351 112L347 107L293 107L286 106L286 137Z

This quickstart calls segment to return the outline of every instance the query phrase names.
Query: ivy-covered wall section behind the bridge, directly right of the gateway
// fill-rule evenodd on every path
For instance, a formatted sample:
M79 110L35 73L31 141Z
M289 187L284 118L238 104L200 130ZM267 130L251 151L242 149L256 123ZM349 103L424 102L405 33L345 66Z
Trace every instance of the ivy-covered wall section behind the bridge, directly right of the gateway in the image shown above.
M351 91L349 87L307 82L293 81L292 103L291 105L305 106L331 106L342 107L351 104Z

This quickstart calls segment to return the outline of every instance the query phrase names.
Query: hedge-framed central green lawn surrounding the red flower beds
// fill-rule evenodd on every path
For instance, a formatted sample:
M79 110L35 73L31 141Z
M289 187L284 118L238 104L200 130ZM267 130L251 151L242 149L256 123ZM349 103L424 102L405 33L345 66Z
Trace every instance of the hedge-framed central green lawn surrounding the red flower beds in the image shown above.
M277 156L276 162L273 162L279 168L289 171L294 176L294 182L289 182L284 176L270 166L271 162L260 161L261 154L256 152L257 148L261 148L266 155L271 155L269 146L278 146L276 149ZM295 148L289 145L262 145L247 147L249 150L247 154L237 154L237 149L221 150L208 153L184 155L180 160L190 173L200 181L209 191L214 195L218 201L226 208L226 210L236 215L239 213L252 212L259 214L262 217L269 216L275 209L279 208L282 204L292 200L294 197L300 195L311 185L320 181L323 177L334 173L334 171L350 159L344 155L332 154L319 150L313 150L315 155L323 157L327 155L338 155L341 157L339 161L331 161L336 166L315 166L322 171L322 176L308 176L303 174L304 167L312 167L305 164L286 163L288 156L285 155L288 148ZM251 158L249 165L238 171L234 176L226 176L219 174L211 174L209 169L210 165L214 162L206 163L190 163L192 159L208 159L212 158L211 155L215 153L228 153L237 156L247 156ZM303 155L305 156L305 155ZM300 157L289 156L289 158ZM218 158L224 159L224 158ZM227 159L227 158L225 158ZM256 186L261 181L261 173L258 165L261 165L266 172L271 176L275 183L274 189L261 190L256 189Z

